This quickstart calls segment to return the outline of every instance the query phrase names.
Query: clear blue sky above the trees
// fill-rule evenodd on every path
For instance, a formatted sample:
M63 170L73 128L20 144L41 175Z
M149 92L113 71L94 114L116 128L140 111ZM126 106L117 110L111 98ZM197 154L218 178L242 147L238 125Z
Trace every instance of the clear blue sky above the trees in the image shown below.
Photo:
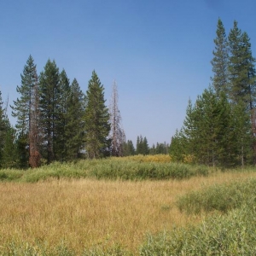
M218 17L227 34L238 21L256 56L255 0L8 0L0 10L4 102L19 96L29 55L38 74L55 60L84 92L95 69L107 105L118 84L126 138L142 135L149 146L170 143L189 97L195 102L211 83Z

